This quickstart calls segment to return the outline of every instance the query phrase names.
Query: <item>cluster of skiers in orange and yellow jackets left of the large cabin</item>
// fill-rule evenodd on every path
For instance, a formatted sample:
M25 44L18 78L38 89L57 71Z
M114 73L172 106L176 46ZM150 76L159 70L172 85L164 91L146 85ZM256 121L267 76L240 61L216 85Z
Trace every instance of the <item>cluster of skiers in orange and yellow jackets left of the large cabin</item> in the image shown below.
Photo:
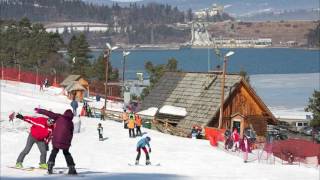
M136 136L141 136L141 117L134 112L127 112L126 110L122 113L123 127L129 130L129 137L134 138ZM136 133L135 130L136 129Z

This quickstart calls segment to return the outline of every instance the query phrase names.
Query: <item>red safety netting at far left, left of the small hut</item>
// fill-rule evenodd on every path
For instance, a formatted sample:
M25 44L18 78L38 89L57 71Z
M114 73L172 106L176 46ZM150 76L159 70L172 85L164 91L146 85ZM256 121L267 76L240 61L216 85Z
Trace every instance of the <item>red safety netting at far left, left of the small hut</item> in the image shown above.
M10 67L4 67L3 69L0 67L0 72L1 79L3 80L20 81L30 84L43 84L44 80L47 78L50 85L59 86L59 82L63 80L63 77L59 75L37 74L37 72L23 71Z

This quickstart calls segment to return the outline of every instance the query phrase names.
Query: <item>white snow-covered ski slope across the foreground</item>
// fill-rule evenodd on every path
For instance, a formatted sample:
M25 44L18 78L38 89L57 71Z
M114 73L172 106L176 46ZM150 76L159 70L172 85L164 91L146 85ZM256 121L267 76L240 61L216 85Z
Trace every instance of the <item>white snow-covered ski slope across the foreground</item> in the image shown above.
M44 170L21 171L8 168L14 166L23 150L29 125L19 119L9 123L8 115L19 111L23 115L36 115L35 107L51 109L63 113L70 108L70 100L61 95L61 89L48 88L39 92L39 87L30 84L1 81L1 151L0 179L210 179L210 180L316 180L319 169L304 165L262 164L258 161L243 163L242 155L232 155L210 146L206 140L194 140L162 134L142 128L151 137L153 164L129 166L136 157L136 143L139 138L129 138L128 130L122 123L112 120L100 121L96 118L74 119L75 126L81 122L80 133L75 133L70 152L76 163L79 176L49 176ZM99 103L92 103L102 106ZM119 104L108 102L108 108L121 109ZM79 112L79 109L78 109ZM98 141L97 124L102 123L105 141ZM51 145L50 145L51 149ZM50 151L47 154L49 157ZM251 159L256 158L251 155ZM25 167L37 167L40 152L36 145L26 156ZM55 167L66 167L62 152L57 155Z

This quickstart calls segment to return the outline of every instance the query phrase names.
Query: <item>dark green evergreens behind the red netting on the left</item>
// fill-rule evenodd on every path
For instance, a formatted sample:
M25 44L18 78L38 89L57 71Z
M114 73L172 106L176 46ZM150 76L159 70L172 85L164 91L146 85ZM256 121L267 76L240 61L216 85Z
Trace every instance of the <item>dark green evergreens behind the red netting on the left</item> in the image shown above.
M67 48L66 57L59 49ZM80 74L87 79L104 80L103 57L92 59L84 34L73 35L64 43L57 33L48 33L42 24L29 19L6 21L0 19L0 61L5 67L66 76ZM109 64L109 80L118 80L118 71Z

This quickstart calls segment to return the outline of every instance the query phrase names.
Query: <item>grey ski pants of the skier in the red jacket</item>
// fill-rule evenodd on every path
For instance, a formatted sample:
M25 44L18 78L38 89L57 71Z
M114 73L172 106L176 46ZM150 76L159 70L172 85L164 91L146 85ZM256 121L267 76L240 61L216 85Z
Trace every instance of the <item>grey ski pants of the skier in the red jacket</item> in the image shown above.
M40 151L40 164L46 163L46 158L47 158L46 143L44 141L37 141L31 136L31 134L29 134L27 139L27 144L23 149L23 151L20 153L17 159L17 162L21 162L21 163L23 162L24 158L30 152L34 143L37 144Z

